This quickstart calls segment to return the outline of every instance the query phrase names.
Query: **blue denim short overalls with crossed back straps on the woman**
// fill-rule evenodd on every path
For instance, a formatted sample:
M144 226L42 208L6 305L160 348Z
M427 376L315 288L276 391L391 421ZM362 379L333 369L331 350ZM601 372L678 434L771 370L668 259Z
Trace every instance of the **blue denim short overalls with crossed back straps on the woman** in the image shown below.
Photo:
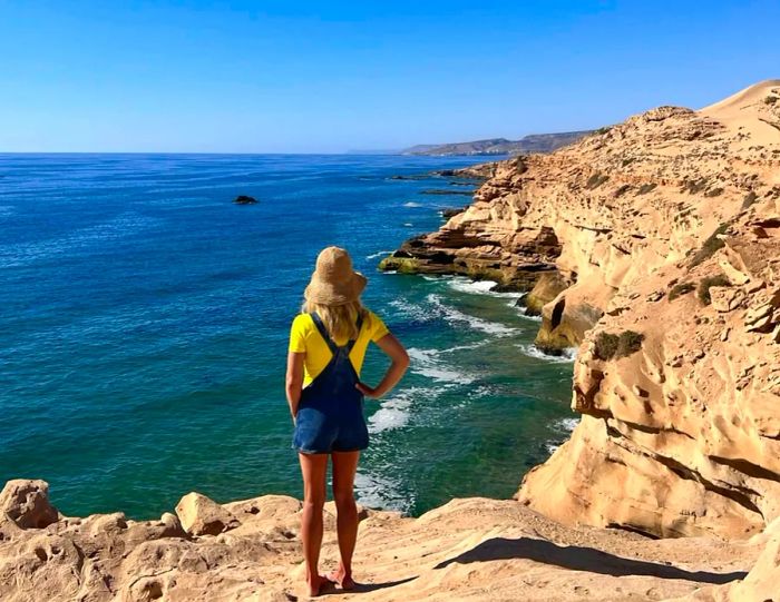
M363 417L363 394L354 386L358 373L350 362L354 341L339 347L320 316L310 315L333 357L301 392L293 447L304 454L365 450L369 432ZM362 317L358 318L359 333L362 325Z

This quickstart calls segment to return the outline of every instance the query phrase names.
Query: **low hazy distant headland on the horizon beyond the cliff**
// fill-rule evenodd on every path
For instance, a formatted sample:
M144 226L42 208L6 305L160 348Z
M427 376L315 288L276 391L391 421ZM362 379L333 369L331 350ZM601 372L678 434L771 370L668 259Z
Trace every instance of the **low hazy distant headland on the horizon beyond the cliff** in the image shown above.
M562 131L558 134L532 134L519 140L490 138L472 142L449 145L417 145L401 151L403 155L517 155L519 152L552 152L592 134L593 130Z

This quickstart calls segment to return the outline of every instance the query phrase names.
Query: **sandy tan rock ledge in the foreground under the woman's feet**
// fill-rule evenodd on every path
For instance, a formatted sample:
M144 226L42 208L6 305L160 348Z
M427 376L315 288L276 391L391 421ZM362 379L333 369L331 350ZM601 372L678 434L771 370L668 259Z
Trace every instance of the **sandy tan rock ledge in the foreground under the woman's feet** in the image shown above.
M26 487L48 504L45 483ZM196 537L172 514L159 521L121 513L62 516L27 529L0 514L0 600L305 599L301 502L265 495L220 507L238 524ZM323 571L338 561L332 504L324 519ZM354 574L361 585L333 591L328 600L710 601L722 592L730 592L728 600L753 600L738 595L771 592L766 580L778 572L778 542L769 533L739 544L650 541L564 526L517 502L486 499L454 500L419 519L363 509L360 519Z

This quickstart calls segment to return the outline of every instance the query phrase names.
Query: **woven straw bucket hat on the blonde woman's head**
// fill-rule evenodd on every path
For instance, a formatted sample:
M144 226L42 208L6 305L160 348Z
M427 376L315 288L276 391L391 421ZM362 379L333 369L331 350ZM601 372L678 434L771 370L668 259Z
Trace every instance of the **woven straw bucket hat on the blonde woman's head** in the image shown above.
M349 253L326 247L316 257L316 268L303 296L322 305L345 305L358 300L365 283L365 276L352 269Z

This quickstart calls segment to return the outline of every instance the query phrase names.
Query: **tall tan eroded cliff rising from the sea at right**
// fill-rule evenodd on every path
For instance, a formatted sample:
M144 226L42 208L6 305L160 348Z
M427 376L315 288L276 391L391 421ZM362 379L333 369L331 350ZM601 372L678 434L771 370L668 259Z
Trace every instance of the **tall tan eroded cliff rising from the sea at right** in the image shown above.
M523 503L653 536L780 515L780 80L498 164L382 267L529 290L537 345L579 346L583 418Z

